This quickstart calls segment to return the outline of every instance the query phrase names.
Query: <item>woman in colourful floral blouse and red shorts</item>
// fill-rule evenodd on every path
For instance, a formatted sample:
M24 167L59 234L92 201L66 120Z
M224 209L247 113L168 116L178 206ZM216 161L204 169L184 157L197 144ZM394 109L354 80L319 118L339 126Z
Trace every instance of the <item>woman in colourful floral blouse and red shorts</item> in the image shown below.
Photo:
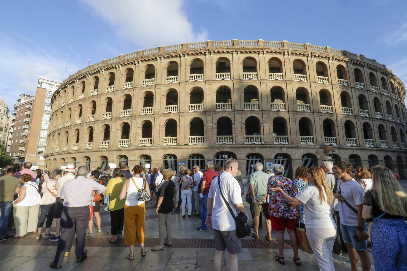
M269 178L267 187L269 189L270 201L269 201L269 215L271 221L271 227L277 231L277 243L279 255L275 256L276 260L280 264L284 262L284 232L287 228L287 232L290 235L291 246L293 247L295 264L301 265L300 257L298 256L298 242L295 234L295 224L297 222L298 207L291 204L285 199L280 192L273 192L270 189L275 187L281 187L287 195L295 197L298 194L298 188L294 182L289 178L284 177L284 167L280 164L273 165L274 176Z

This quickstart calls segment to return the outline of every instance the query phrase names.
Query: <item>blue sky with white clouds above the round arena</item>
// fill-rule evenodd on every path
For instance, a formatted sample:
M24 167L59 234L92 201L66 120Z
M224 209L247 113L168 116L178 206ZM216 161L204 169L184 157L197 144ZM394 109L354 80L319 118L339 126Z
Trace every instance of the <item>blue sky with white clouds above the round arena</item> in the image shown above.
M0 93L12 107L37 78L64 79L119 54L182 42L309 42L376 59L407 85L407 1L7 1ZM0 98L1 98L0 97ZM407 99L406 99L407 100Z

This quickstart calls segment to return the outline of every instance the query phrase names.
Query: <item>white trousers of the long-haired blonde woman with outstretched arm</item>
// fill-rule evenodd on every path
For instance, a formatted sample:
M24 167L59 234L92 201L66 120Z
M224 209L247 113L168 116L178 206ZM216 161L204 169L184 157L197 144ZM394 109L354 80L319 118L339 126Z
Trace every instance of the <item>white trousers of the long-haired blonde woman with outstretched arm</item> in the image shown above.
M319 271L334 271L332 248L336 238L336 228L306 229L306 236L314 251Z

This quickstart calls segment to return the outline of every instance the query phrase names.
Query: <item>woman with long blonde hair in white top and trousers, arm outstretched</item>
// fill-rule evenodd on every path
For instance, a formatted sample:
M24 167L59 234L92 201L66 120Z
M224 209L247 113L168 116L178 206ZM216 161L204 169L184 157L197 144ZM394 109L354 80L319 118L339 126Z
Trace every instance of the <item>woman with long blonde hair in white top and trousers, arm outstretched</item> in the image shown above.
M307 186L295 197L290 197L280 187L271 191L282 193L292 204L304 204L306 236L315 254L320 271L335 270L332 258L336 238L336 224L332 218L333 192L326 182L325 172L319 167L308 170Z

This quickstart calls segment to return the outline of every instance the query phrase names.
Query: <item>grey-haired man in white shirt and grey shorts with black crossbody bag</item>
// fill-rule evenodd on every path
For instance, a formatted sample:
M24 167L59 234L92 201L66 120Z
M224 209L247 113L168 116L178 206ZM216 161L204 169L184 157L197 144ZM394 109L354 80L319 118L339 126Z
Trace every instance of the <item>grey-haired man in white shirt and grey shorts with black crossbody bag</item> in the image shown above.
M219 176L219 179L215 177L212 180L208 193L206 225L208 227L212 225L213 230L216 249L214 256L215 271L220 271L222 268L222 256L225 249L228 249L229 269L239 269L238 254L242 252L242 244L240 238L236 235L236 223L219 190L220 184L223 196L228 201L235 216L242 212L249 219L245 206L243 206L239 182L234 178L238 167L239 165L235 159L229 158L226 160L223 166L224 171Z

